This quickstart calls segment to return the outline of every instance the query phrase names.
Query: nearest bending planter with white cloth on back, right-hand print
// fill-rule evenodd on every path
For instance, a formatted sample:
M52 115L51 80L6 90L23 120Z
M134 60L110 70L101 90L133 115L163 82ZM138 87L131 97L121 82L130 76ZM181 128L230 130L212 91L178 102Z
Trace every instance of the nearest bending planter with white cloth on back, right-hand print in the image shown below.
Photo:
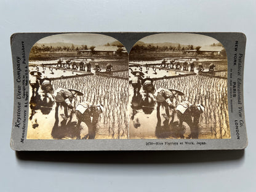
M192 138L198 138L199 135L199 129L198 129L198 123L200 114L204 112L204 106L203 105L192 105L190 102L182 102L178 103L177 108L177 117L179 120L179 129L180 129L180 137L184 138L185 130L183 130L182 123L186 122L188 126L190 126L191 135ZM193 118L193 120L192 120Z

